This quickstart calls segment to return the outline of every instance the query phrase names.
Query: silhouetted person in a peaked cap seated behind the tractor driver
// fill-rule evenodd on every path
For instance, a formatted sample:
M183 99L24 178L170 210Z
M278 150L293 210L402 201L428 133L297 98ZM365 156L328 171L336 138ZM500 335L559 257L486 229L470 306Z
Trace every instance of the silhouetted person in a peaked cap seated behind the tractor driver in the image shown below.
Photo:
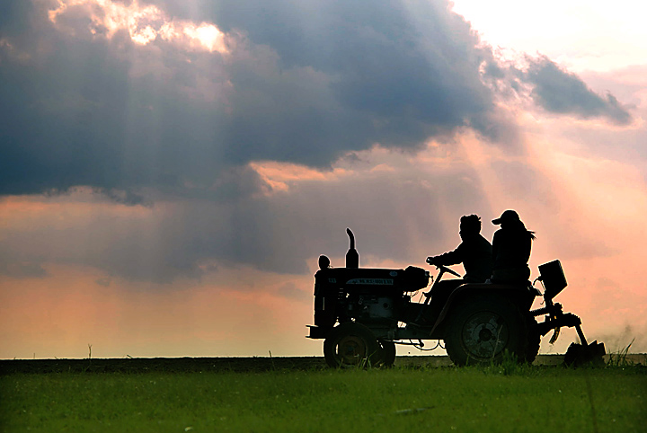
M526 229L514 210L506 210L501 217L492 219L492 224L501 225L492 238L492 282L527 281L534 232Z

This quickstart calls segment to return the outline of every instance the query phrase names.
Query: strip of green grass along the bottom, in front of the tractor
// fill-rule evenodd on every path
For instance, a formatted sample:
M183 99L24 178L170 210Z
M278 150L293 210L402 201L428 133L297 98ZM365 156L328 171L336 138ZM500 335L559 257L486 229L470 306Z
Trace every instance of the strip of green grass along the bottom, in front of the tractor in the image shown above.
M644 431L645 367L0 376L2 431Z

